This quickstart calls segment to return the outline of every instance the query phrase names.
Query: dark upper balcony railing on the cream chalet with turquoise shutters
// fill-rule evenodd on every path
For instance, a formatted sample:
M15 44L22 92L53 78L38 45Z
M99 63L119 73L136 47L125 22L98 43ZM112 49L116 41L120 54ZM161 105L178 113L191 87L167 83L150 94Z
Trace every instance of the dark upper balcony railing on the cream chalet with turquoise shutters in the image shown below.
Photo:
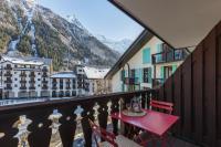
M183 61L188 56L186 49L175 49L168 52L152 54L152 64Z

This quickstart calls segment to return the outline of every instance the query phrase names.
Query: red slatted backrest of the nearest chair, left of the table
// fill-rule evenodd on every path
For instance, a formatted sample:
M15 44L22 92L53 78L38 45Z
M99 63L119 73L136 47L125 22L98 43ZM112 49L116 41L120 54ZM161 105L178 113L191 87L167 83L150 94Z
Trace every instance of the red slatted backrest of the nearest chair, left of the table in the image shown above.
M94 122L92 122L91 119L88 119L92 132L94 133L94 135L98 135L102 139L108 141L109 144L112 144L114 147L118 147L118 145L115 143L116 136L109 132L107 132L106 129L97 126ZM94 136L94 139L98 146L98 141L96 136Z

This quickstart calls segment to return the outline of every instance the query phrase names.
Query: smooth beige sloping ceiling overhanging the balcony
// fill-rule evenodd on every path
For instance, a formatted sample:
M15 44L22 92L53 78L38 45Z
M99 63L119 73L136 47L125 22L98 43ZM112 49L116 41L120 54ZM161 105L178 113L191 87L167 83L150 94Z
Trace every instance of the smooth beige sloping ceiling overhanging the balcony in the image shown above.
M221 0L113 0L175 48L192 46L221 20Z

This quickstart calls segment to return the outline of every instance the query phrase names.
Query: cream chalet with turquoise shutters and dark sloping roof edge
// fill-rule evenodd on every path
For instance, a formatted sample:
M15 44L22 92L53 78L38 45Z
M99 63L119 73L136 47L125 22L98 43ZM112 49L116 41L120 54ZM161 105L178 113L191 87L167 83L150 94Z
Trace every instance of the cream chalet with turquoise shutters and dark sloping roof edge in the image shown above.
M144 31L105 78L112 81L113 92L156 87L177 70L187 55L186 49L171 49Z

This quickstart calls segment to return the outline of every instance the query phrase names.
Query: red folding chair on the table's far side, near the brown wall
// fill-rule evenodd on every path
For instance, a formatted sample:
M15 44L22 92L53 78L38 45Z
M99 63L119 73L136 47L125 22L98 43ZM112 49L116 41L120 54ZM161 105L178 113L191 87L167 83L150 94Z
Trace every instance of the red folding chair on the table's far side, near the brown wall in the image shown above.
M151 99L150 104L149 104L149 109L156 108L156 109L165 111L167 114L172 113L172 111L173 111L172 107L173 107L172 103L161 102L161 101L152 101ZM148 132L143 132L135 138L135 140L136 140L136 143L139 143L141 146L146 146L147 143L149 143L151 140L160 139L160 140L162 140L164 146L166 146L167 138L168 138L168 134L165 134L164 136L158 137Z

